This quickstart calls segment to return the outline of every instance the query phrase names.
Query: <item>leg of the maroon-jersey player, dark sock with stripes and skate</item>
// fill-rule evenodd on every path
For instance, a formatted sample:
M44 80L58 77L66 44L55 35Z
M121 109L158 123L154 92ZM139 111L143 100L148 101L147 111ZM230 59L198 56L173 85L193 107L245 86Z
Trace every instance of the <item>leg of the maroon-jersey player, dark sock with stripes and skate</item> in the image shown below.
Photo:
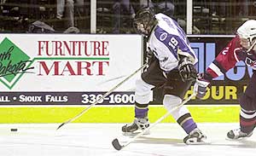
M229 139L239 139L253 135L256 125L256 73L250 79L247 90L240 98L240 128L230 130L227 134Z

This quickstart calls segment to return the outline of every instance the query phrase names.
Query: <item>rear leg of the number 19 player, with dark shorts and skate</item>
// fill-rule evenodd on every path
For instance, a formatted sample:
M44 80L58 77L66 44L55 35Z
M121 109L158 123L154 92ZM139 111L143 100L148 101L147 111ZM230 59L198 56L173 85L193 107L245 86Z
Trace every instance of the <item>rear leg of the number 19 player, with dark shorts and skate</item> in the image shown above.
M172 107L176 107L182 102L182 99L187 90L189 90L192 82L183 82L177 71L173 71L168 74L168 82L165 85L163 104L168 111L172 110ZM195 124L189 110L186 106L177 108L172 112L173 118L188 134L183 139L186 144L204 144L207 143L207 137L201 133Z

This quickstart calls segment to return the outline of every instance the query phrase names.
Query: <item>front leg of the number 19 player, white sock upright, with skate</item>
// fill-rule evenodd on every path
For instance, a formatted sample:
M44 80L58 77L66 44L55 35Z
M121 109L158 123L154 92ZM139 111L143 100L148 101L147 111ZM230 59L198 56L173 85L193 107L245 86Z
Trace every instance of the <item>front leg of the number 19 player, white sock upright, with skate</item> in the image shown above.
M125 124L122 131L125 133L133 133L137 130L143 130L149 126L148 121L148 103L150 100L150 92L155 87L166 82L159 62L153 58L147 70L143 72L142 78L136 82L135 90L135 119L131 124Z

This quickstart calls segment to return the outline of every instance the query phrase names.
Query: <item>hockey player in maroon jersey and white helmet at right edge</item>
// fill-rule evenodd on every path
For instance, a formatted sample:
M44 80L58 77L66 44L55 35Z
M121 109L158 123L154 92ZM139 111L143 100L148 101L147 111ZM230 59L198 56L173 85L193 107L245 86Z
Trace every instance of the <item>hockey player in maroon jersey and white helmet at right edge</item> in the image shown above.
M202 98L207 91L208 84L212 78L217 78L229 71L238 61L244 61L247 66L253 68L253 76L250 78L247 89L241 95L239 103L240 128L230 130L227 133L229 139L239 139L253 135L256 124L256 20L247 20L242 24L230 43L225 47L208 66L205 73L201 73L197 78L194 90L197 97Z

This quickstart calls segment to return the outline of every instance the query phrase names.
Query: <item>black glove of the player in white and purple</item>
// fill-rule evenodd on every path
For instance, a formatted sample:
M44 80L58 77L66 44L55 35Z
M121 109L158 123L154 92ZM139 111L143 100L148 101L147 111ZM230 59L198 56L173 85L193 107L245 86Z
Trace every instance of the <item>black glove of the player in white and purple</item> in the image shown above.
M183 57L178 62L177 70L183 82L188 80L195 80L197 77L197 71L189 57Z

